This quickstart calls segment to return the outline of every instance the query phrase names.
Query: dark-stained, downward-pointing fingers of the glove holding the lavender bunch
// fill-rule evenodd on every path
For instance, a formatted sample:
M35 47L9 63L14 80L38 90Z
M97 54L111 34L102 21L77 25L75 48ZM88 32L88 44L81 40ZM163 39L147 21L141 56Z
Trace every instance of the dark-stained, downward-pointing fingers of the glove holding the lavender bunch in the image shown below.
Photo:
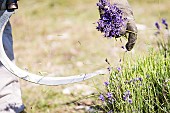
M127 23L127 32L129 33L129 36L128 42L126 44L126 49L131 51L137 39L137 27L134 20L130 20L129 23Z

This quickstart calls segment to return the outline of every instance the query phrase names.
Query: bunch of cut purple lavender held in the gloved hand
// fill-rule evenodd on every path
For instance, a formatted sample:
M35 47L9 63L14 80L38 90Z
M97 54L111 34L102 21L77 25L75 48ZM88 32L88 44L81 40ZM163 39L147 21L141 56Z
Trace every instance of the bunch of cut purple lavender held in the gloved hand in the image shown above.
M104 37L120 37L121 28L127 20L127 18L123 18L123 12L107 0L99 0L97 6L100 10L100 19L97 22L96 29L104 33Z

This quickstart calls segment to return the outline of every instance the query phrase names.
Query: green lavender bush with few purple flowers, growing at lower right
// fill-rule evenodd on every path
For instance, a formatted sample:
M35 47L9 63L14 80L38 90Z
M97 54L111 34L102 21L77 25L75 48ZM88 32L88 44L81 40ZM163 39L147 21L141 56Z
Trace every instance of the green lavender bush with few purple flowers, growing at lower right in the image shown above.
M169 41L159 42L158 51L152 48L149 56L139 58L136 63L126 62L121 68L114 69L109 81L105 82L106 91L100 93L99 99L102 104L98 110L100 108L108 113L168 113L170 111L169 45Z

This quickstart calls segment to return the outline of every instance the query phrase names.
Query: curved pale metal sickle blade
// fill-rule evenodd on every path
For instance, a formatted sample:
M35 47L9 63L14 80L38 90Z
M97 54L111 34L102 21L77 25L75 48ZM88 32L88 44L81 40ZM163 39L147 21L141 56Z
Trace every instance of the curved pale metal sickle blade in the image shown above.
M61 84L69 84L74 82L81 82L83 80L92 78L96 75L101 74L108 74L109 71L107 69L97 70L93 73L88 74L81 74L81 75L75 75L75 76L68 76L68 77L46 77L46 76L40 76L36 74L29 73L25 70L20 69L17 67L14 63L10 61L10 59L7 57L4 47L3 47L3 31L4 28L9 21L10 16L14 12L8 12L5 11L3 15L0 17L0 61L4 65L4 67L10 71L12 74L16 75L17 77L24 79L26 81L36 83L36 84L42 84L42 85L61 85Z

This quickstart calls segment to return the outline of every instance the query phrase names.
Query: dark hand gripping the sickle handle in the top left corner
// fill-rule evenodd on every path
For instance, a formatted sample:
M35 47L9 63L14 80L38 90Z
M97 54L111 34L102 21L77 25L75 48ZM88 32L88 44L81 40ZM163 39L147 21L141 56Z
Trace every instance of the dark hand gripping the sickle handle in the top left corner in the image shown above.
M15 10L18 9L18 0L4 0L2 3L0 2L1 10Z

